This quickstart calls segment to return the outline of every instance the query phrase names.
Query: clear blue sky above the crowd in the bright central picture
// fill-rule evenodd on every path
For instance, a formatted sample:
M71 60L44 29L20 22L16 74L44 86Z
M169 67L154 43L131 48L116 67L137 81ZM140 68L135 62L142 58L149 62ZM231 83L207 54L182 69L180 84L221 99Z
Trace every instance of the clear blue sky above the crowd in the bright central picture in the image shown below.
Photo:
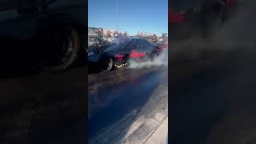
M88 26L116 30L116 0L88 0ZM168 0L118 0L118 31L168 33Z

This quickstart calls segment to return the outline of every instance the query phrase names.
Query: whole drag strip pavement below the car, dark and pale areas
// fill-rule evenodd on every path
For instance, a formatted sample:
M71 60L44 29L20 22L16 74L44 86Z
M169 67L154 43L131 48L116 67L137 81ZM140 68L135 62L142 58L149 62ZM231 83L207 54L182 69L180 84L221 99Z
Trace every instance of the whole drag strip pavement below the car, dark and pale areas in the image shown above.
M113 84L103 81L100 90L89 94L89 143L146 142L168 116L167 68L110 72L100 78L113 78ZM125 80L118 81L118 74ZM89 82L90 77L96 75Z

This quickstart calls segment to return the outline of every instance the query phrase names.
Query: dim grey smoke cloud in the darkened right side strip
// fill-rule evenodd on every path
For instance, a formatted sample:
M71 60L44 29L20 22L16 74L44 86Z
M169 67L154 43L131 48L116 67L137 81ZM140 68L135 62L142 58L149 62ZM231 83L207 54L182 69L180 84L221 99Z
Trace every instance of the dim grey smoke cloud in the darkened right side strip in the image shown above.
M223 26L212 26L208 38L193 35L191 38L171 43L173 58L197 60L209 51L232 51L236 48L254 50L256 48L256 18L254 6L256 1L247 0L234 9L234 15ZM182 56L182 57L181 57Z

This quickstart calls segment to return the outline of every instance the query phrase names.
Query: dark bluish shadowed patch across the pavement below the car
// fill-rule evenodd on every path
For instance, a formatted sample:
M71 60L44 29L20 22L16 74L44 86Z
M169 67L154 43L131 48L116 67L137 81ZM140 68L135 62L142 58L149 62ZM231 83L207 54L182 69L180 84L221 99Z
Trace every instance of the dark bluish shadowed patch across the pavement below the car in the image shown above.
M143 106L162 82L160 71L154 70L140 78L130 78L124 85L111 86L98 94L90 95L89 106L98 106L90 112L88 137L94 137L98 130L110 126L130 111ZM99 102L95 102L94 99L98 99Z

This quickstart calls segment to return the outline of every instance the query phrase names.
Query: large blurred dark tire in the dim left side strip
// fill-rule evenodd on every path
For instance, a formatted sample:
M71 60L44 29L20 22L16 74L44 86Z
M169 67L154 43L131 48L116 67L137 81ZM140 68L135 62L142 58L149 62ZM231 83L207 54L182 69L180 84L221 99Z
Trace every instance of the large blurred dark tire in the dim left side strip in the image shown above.
M49 30L48 30L49 31ZM67 70L78 60L81 36L74 26L58 26L50 29L43 38L40 66L45 72Z

